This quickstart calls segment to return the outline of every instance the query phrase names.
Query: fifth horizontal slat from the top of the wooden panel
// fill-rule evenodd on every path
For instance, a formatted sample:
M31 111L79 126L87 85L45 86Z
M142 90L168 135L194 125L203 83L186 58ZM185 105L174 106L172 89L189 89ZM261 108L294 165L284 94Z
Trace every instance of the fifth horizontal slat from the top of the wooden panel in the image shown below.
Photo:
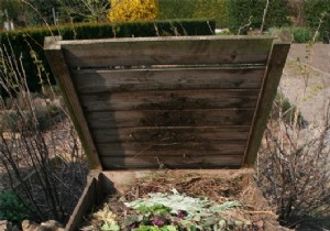
M250 127L173 127L92 130L96 143L246 140Z

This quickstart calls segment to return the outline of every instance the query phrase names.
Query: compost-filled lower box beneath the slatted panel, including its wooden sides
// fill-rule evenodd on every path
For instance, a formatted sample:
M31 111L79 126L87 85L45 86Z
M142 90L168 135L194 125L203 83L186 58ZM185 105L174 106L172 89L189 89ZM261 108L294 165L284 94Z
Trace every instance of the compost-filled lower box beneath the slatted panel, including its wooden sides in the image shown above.
M282 230L252 175L251 169L92 173L66 229Z

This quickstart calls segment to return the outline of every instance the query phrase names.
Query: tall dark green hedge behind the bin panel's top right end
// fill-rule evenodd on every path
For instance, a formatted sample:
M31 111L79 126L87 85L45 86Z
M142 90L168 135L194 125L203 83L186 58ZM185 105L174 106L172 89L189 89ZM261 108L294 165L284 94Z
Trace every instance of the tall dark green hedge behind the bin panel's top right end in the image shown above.
M250 30L258 30L261 28L266 0L229 0L227 3L228 25L231 33L238 34L240 31L240 34L246 34ZM264 29L288 24L288 0L271 0Z

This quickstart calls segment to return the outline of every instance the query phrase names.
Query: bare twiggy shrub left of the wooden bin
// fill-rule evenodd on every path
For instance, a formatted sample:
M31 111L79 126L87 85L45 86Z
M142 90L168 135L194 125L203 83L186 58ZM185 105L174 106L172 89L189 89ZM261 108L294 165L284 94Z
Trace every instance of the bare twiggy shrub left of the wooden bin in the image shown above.
M24 68L15 55L1 47L0 64L6 70L0 72L0 86L8 95L6 99L0 97L0 168L7 170L7 183L19 199L29 202L31 219L65 222L86 183L87 164L80 143L66 119L67 112L57 107L59 99L34 98L29 91ZM51 88L48 81L44 86ZM52 95L56 97L54 91ZM66 162L56 164L53 157ZM11 194L4 196L4 201L0 213L6 219L20 221L25 217L19 216L21 207Z

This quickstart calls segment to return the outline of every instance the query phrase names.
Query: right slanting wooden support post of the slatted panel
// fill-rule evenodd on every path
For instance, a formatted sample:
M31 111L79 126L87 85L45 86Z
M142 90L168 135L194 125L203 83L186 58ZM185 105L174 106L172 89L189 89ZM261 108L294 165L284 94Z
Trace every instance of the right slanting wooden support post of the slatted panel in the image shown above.
M290 44L274 44L242 165L253 167Z

